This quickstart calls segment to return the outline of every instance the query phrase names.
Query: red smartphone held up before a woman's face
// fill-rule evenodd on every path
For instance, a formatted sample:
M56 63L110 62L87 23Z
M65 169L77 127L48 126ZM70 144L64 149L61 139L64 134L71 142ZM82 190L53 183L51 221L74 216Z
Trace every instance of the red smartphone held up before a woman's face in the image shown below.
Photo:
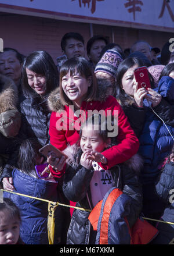
M146 66L137 67L134 71L135 80L138 83L138 88L144 87L146 90L151 88L150 79L148 77L148 70Z

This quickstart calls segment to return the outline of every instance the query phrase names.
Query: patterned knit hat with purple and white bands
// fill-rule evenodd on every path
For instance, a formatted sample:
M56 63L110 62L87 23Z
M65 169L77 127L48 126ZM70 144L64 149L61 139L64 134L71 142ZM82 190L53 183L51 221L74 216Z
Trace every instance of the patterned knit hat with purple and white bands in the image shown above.
M95 73L104 72L110 74L115 79L115 74L119 63L123 61L122 56L117 52L117 49L108 49L97 63Z

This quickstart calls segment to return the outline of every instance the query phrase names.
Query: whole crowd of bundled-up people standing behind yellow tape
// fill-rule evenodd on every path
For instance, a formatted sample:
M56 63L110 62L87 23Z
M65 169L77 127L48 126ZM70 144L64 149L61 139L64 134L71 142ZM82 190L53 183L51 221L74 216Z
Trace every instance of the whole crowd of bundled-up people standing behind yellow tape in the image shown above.
M53 244L172 243L174 49L103 35L85 47L76 32L60 46L56 63L0 52L0 244L49 244L37 198L67 205L55 209ZM144 66L148 88L134 74ZM66 157L45 157L46 144Z

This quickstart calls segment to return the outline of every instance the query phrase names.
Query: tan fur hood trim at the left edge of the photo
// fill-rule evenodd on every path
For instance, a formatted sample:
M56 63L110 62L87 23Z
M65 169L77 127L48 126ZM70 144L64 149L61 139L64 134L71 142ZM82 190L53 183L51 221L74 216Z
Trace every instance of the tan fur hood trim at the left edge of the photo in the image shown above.
M0 113L17 109L18 90L9 77L0 74Z

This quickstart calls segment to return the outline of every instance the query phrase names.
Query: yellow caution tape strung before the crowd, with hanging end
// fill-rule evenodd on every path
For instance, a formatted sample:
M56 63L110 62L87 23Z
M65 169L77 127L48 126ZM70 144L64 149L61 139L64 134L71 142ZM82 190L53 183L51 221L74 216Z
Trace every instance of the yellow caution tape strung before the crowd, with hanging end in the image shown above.
M74 209L79 209L79 210L82 210L82 211L91 212L90 209L75 207L75 206L72 206L72 205L60 204L60 202L53 202L53 201L49 201L49 200L46 200L46 199L42 199L42 198L38 198L38 197L32 197L31 195L25 195L25 194L13 192L13 191L5 190L5 189L0 189L0 190L6 191L8 193L16 194L16 195L21 195L23 197L33 198L35 200L41 200L41 201L48 202L48 224L47 224L47 227L48 227L49 244L53 244L53 242L54 242L54 236L55 236L55 209L58 205L61 205L61 206L64 206L64 207L70 207L70 208L74 208ZM174 225L173 222L161 221L161 220L158 220L158 219L151 219L151 218L146 218L146 217L142 217L142 218L147 219L148 221L156 221L156 222L162 222L162 223L167 223L167 224L170 224L170 225Z

